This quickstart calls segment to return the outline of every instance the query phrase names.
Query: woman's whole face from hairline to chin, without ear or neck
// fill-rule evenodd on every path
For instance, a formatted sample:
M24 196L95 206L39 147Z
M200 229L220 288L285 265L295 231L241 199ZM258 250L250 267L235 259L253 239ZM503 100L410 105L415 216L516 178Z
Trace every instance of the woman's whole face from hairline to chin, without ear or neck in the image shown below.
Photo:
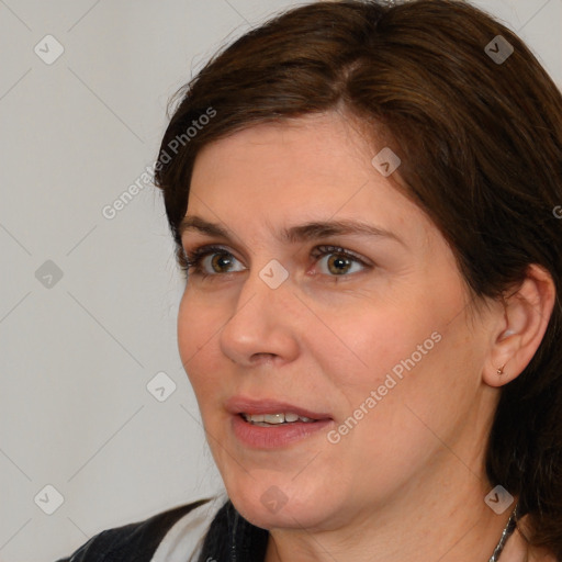
M215 248L190 270L179 349L228 495L265 528L438 501L443 479L487 492L490 317L471 319L449 246L381 173L392 161L372 164L383 148L328 113L195 161L187 216L226 236L183 233L188 254Z

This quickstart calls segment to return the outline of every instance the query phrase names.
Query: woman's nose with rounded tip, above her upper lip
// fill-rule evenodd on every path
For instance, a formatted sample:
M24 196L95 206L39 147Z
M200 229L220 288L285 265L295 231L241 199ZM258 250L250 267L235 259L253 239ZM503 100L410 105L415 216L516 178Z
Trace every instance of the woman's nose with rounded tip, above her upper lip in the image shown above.
M267 268L265 268L267 269ZM238 292L234 314L220 334L222 352L241 367L290 362L299 355L302 314L290 278L268 284L268 270L250 271Z

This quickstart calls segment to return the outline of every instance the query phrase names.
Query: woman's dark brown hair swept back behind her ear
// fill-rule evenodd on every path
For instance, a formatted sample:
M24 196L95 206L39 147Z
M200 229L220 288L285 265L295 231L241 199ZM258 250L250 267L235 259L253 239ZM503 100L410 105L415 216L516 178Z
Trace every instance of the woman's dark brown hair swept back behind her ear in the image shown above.
M507 59L494 58L509 45ZM543 340L502 390L486 472L519 496L530 544L562 559L562 221L553 211L562 204L562 97L507 27L458 0L316 2L217 53L179 92L156 165L178 260L203 146L339 108L386 133L408 196L449 241L475 296L502 299L530 263L554 280Z

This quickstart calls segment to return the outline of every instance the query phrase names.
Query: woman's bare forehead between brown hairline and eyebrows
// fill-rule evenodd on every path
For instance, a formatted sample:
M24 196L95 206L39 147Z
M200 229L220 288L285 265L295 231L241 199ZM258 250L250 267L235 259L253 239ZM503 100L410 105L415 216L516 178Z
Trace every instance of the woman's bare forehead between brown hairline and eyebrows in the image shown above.
M336 113L250 126L198 155L188 215L244 228L360 218L425 236L429 220L373 166L380 149Z

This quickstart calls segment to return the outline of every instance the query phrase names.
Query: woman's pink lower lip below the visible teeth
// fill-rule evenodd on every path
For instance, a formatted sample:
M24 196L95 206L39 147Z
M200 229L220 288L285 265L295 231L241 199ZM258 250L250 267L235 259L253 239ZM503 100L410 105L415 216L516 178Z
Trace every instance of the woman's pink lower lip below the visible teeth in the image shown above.
M233 416L233 430L236 438L248 447L256 449L276 449L285 445L306 439L326 429L331 419L318 422L294 422L279 426L261 427L246 422L240 415Z

